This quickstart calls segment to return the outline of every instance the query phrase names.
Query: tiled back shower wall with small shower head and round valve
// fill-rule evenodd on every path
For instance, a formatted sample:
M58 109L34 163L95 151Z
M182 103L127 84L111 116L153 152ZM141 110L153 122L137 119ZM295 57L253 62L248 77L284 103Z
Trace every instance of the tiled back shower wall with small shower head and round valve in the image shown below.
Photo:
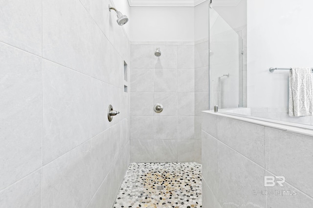
M157 47L160 57L154 55ZM193 42L132 43L131 162L201 162L194 47ZM154 112L156 103L163 112Z

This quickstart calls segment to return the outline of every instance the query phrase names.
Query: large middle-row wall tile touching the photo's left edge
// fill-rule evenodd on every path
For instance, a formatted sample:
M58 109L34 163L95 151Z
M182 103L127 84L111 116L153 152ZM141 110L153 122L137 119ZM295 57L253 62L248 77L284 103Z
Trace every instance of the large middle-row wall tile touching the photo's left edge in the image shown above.
M42 59L0 43L0 189L42 165Z

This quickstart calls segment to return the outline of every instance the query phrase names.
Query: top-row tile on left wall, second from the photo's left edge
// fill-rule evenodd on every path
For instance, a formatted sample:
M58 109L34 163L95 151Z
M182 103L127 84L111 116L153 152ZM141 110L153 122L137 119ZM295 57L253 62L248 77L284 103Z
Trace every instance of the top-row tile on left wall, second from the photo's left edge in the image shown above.
M43 0L43 57L89 74L91 19L78 0Z

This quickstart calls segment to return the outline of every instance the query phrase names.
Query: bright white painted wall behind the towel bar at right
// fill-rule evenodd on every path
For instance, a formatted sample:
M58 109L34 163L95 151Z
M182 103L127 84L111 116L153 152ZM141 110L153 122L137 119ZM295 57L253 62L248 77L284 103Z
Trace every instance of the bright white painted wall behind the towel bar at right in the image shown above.
M288 106L289 72L270 67L313 67L312 7L308 0L248 0L248 107Z

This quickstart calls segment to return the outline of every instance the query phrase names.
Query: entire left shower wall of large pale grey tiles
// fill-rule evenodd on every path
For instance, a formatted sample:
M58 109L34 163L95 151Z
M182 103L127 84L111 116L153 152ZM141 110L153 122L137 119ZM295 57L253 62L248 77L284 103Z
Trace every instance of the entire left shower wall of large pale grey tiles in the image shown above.
M109 3L1 5L1 208L112 207L129 164L130 44Z

